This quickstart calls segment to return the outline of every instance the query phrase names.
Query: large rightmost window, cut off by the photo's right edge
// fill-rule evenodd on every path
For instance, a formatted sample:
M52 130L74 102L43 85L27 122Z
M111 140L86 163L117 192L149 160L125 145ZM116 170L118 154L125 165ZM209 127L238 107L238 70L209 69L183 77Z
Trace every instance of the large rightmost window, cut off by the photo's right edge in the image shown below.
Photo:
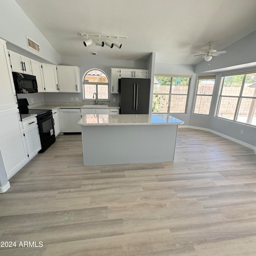
M256 72L223 75L217 117L256 126Z

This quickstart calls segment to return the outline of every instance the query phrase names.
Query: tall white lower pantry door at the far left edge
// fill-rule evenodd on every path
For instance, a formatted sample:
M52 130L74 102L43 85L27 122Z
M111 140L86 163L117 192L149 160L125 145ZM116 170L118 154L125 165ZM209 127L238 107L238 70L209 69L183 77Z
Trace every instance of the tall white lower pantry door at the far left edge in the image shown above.
M28 159L18 109L1 112L0 124L0 150L9 179Z

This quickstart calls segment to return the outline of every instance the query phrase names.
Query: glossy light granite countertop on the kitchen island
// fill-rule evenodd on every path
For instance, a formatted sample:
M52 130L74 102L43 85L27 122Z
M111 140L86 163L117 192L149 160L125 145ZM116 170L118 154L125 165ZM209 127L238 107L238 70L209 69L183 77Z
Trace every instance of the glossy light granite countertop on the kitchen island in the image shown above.
M116 126L116 125L172 125L184 124L182 120L168 114L86 114L78 122L81 126Z

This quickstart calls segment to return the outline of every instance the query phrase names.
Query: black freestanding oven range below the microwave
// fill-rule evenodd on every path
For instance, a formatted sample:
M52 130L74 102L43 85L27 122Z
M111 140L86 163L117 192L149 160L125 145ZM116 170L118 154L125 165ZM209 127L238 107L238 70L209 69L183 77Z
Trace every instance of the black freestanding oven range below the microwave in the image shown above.
M29 109L27 99L18 99L18 108L20 114L36 114L38 130L40 136L40 142L42 149L39 153L44 152L55 141L54 123L52 118L52 110L43 109Z

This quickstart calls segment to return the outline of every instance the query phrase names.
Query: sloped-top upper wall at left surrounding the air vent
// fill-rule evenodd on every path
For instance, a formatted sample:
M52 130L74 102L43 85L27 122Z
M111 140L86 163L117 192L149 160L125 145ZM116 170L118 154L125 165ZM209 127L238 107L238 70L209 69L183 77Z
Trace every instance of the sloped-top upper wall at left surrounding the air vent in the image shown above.
M8 43L25 49L54 64L60 62L59 54L32 23L15 0L0 1L0 24L0 37ZM40 54L28 48L26 36L30 37L40 45Z

